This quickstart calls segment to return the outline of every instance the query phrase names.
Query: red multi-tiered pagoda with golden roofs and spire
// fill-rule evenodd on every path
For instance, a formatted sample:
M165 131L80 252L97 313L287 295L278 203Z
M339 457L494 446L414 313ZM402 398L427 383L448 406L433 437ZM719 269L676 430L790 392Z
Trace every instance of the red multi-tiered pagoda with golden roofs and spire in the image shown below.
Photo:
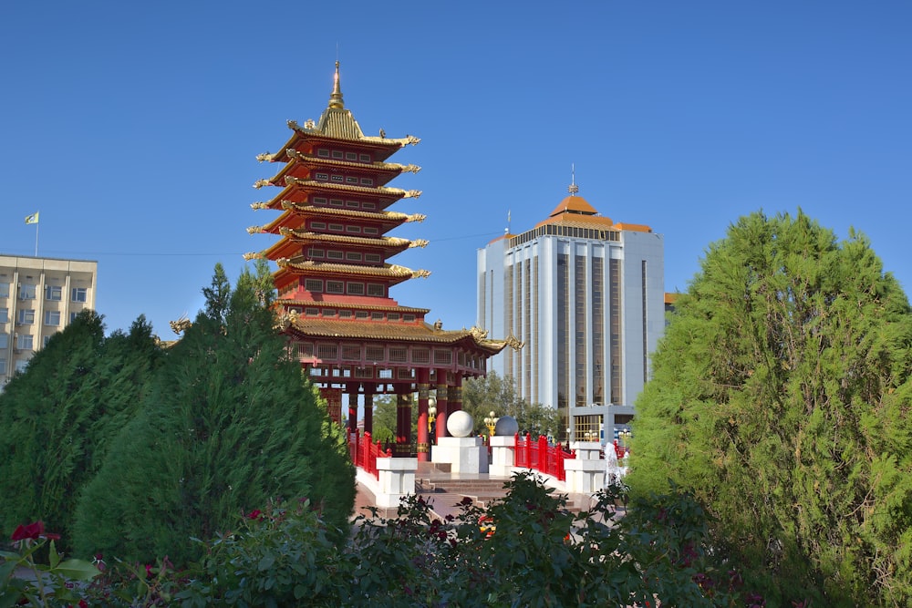
M390 296L393 286L427 277L389 261L399 252L428 242L389 236L405 222L425 215L390 211L420 191L388 184L415 165L389 162L389 157L420 139L388 138L381 129L366 136L345 108L336 63L329 104L315 123L288 121L291 137L260 161L282 164L275 176L254 188L275 196L254 202L254 210L279 211L274 220L248 229L280 237L247 258L265 258L273 274L280 331L291 352L320 387L330 416L341 420L342 396L348 397L348 432L357 432L358 397L364 401L364 430L372 429L373 397L398 396L395 456L411 454L411 407L407 396L418 392L417 452L428 459L430 390L436 390L437 435L446 434L446 417L461 409L462 379L484 376L487 360L507 345L487 339L477 327L448 331L440 321L430 325L427 308L400 306Z

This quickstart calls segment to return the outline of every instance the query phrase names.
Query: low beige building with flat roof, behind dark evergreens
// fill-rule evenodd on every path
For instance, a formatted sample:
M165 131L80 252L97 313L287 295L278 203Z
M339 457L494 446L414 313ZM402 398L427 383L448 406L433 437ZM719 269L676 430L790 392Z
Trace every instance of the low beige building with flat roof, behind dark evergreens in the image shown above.
M0 255L0 386L86 308L98 263Z

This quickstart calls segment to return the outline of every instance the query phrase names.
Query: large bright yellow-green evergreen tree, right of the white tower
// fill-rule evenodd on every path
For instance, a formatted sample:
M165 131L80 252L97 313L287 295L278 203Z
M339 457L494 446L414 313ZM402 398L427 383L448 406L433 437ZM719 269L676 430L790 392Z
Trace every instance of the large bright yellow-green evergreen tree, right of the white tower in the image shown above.
M637 400L631 487L692 490L714 551L771 596L912 603L912 316L869 242L754 213L676 306Z

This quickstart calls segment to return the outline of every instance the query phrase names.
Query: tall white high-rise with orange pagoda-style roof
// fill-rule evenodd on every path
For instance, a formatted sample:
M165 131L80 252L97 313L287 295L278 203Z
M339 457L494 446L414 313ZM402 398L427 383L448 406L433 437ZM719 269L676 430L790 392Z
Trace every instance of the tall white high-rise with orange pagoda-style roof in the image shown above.
M633 417L664 331L663 237L569 191L533 229L478 251L477 325L523 344L491 369L560 411L556 436L610 440Z

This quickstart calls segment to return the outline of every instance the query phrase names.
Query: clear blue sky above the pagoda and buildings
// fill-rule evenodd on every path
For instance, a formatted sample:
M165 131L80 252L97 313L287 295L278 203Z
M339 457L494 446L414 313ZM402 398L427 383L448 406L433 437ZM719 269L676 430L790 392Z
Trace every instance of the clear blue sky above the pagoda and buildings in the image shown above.
M751 211L864 232L907 293L912 3L6 2L0 252L98 261L109 331L202 307L215 263L274 242L254 157L319 118L342 64L368 134L422 139L393 290L475 320L475 255L566 195L665 238L667 291Z

